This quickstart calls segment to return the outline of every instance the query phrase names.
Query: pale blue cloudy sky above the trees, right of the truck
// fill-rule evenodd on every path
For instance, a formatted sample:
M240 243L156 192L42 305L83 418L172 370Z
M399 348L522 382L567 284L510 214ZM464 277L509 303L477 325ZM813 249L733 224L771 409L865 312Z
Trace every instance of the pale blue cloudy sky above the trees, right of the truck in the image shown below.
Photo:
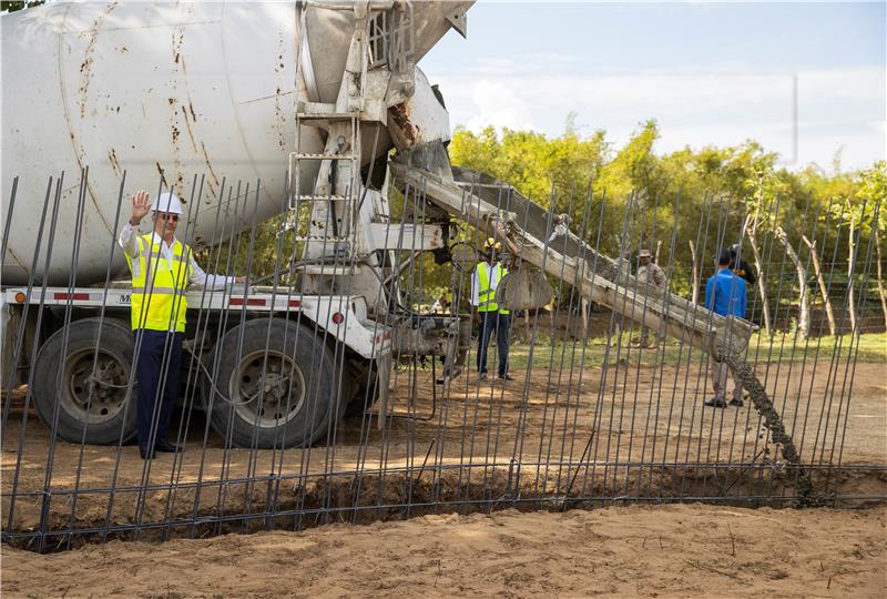
M452 126L618 148L648 119L656 152L747 139L799 170L887 158L887 2L476 3L420 62Z

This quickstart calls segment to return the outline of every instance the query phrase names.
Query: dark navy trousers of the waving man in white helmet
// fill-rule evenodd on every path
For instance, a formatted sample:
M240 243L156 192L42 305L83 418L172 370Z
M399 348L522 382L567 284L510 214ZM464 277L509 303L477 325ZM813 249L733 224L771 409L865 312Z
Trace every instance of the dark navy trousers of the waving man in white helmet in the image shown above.
M136 339L140 333L142 346L135 365L135 373L139 375L139 446L149 447L166 439L173 404L179 397L179 370L185 335L144 329L135 332ZM157 402L160 407L155 409Z

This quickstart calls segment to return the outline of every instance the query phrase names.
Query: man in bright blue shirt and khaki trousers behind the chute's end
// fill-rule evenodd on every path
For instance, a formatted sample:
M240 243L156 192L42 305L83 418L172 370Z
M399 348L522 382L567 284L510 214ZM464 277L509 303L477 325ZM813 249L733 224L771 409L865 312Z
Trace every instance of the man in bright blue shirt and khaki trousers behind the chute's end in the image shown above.
M705 307L721 316L745 318L745 280L730 270L730 251L722 250L717 256L717 272L705 284ZM706 406L726 407L727 365L711 361L714 397L705 400ZM742 383L733 376L733 398L731 406L742 406Z

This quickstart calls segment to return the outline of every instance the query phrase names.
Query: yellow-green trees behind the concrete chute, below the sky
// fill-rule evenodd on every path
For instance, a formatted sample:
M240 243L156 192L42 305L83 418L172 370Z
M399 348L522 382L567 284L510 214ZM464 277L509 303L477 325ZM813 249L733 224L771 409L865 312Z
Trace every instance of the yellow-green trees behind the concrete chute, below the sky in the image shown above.
M713 268L708 257L718 247L747 238L744 250L751 251L750 261L762 275L756 291L768 331L775 326L771 322L774 306L777 311L785 308L768 301L767 282L782 285L785 277L779 277L782 267L766 272L765 246L781 244L777 247L785 253L785 264L791 263L798 273L794 307L803 308L803 329L807 326L806 304L812 301L806 281L810 262L829 314L819 255L828 248L829 258L836 252L837 260L848 261L853 251L845 237L852 223L854 232L859 233L853 238L867 242L876 234L874 247L880 255L877 233L883 236L887 215L881 211L873 224L873 211L875 199L885 193L884 163L861 172L838 166L830 175L815 164L792 172L778 165L778 154L753 140L728 148L684 148L660 154L657 139L657 124L649 120L639 124L624 145L615 148L603 131L581 136L571 115L564 133L558 136L508 129L487 128L479 133L459 129L450 155L456 165L486 172L546 207L552 207L553 202L554 211L570 212L572 230L580 235L589 233L579 231L585 211L591 210L594 222L590 229L594 231L604 202L600 250L615 256L620 248L630 252L648 247L655 252L662 244L673 270L672 288L682 293L690 287L690 273L701 270L707 276ZM583 197L589 189L593 190L590 204ZM866 214L856 214L864 205L863 196L869 199ZM628 225L624 240L623 222ZM835 222L842 224L840 232ZM838 235L840 244L836 247ZM884 298L880 260L877 267L878 294ZM884 300L881 307L887 321ZM788 318L783 316L778 322Z

